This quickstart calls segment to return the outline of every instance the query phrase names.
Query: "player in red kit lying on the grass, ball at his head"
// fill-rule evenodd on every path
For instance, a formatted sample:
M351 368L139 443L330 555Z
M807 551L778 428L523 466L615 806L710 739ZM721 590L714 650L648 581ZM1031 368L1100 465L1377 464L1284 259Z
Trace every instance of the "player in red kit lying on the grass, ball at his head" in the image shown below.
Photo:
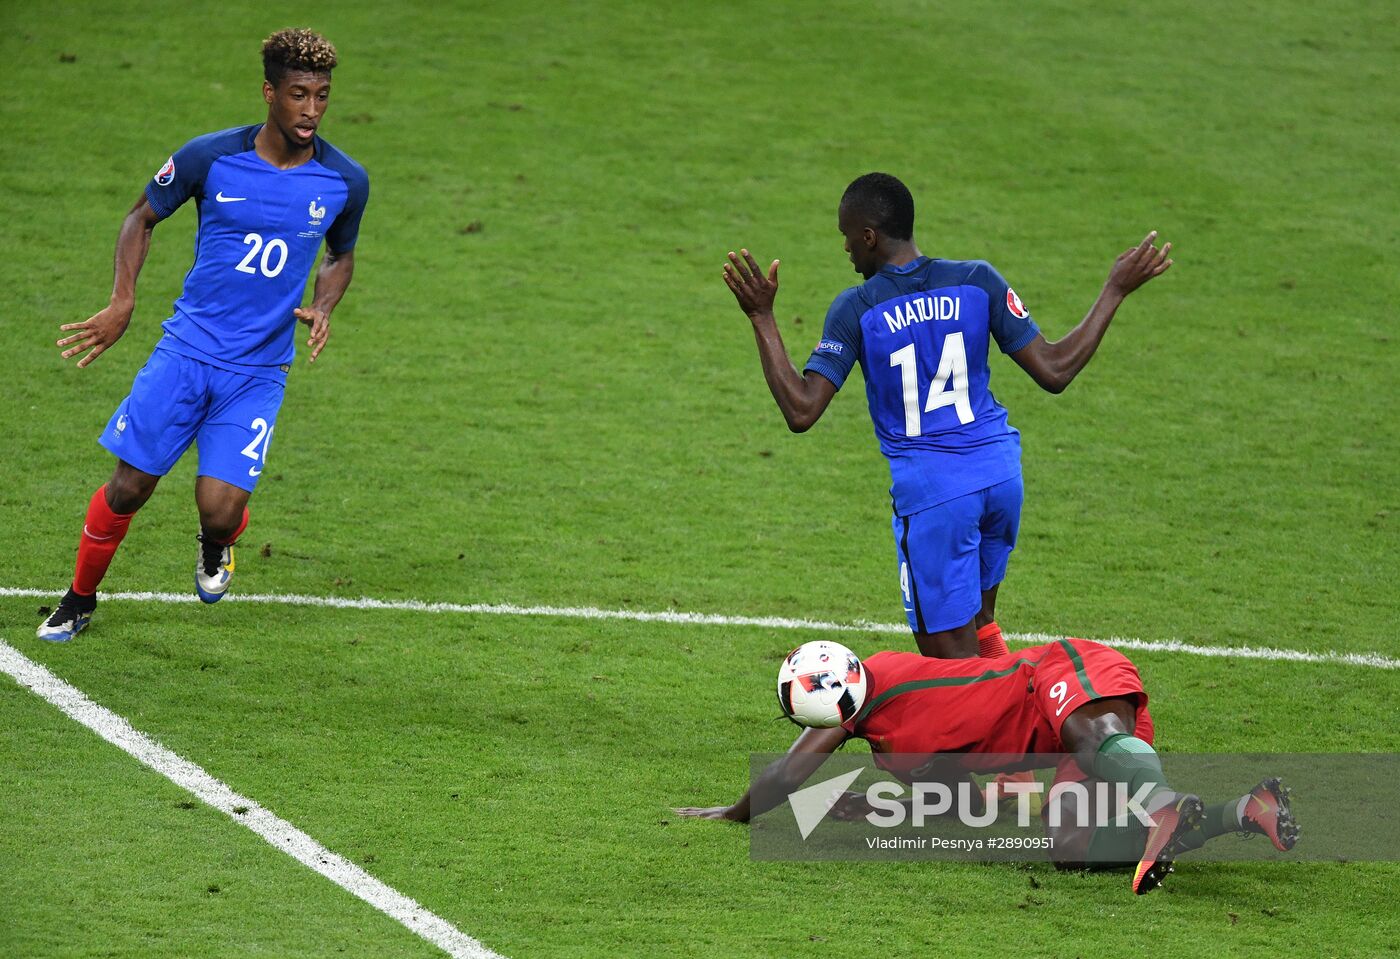
M1162 882L1175 855L1231 832L1261 833L1280 850L1298 839L1287 790L1264 780L1243 797L1214 806L1166 784L1152 749L1152 717L1137 669L1117 650L1089 640L1058 640L1002 657L934 659L913 652L876 652L865 662L836 643L808 643L790 654L783 679L797 678L826 690L836 710L830 728L806 728L788 755L769 766L738 802L678 809L685 816L749 822L801 788L826 757L851 738L869 742L875 763L910 778L910 767L890 767L882 756L928 764L948 755L956 770L994 773L1047 762L1037 753L1068 753L1056 784L1095 777L1123 784L1128 795L1148 788L1144 809L1152 826L1127 816L1124 825L1079 826L1075 790L1056 790L1046 804L1061 804L1047 832L1061 868L1085 864L1135 864L1133 892ZM780 683L784 715L798 721L791 686ZM798 722L802 725L802 722ZM979 762L979 757L987 757ZM1022 762L1008 764L1008 757ZM1095 791L1089 790L1092 795ZM864 795L846 794L834 811L855 818L871 811ZM1088 815L1082 822L1100 822Z

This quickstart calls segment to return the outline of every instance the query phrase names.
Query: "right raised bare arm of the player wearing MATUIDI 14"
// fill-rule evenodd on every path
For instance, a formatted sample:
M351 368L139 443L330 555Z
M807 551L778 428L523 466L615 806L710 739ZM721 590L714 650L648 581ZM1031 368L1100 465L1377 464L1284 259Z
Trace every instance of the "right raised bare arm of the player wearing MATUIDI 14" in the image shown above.
M1037 333L1030 343L1011 354L1011 358L1042 389L1051 393L1064 392L1099 349L1119 305L1130 293L1152 277L1162 276L1172 266L1168 256L1172 252L1172 244L1165 244L1158 249L1155 241L1156 231L1154 230L1142 238L1141 244L1126 249L1113 262L1103 291L1099 293L1099 298L1093 301L1093 307L1089 308L1078 326L1054 343Z

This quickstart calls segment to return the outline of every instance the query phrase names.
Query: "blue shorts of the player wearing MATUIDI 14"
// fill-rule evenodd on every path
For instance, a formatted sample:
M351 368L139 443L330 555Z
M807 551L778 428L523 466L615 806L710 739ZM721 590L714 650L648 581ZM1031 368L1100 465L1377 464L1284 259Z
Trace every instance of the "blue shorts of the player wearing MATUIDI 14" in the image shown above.
M1021 476L1015 476L907 517L895 515L909 629L941 633L977 615L983 591L1007 577L1021 528Z

